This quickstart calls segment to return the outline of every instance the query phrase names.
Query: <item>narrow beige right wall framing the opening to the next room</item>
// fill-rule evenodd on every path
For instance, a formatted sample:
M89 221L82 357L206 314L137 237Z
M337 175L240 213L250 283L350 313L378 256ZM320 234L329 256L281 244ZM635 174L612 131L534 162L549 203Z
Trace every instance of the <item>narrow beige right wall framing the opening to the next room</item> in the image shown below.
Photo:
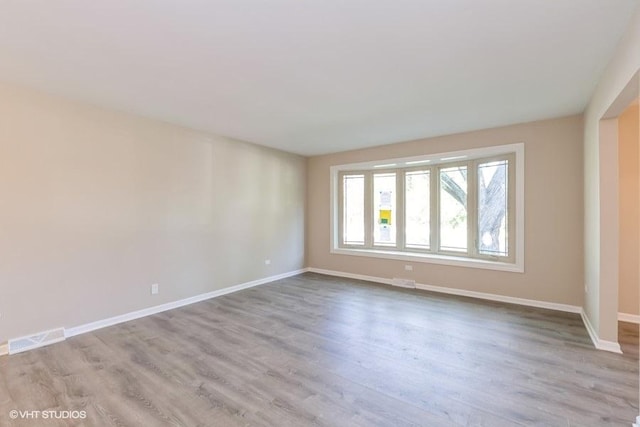
M606 266L605 271L618 272L618 260L607 257L604 246L610 242L602 242L610 238L617 239L617 224L605 222L601 218L601 208L614 207L601 203L601 196L612 191L617 192L617 180L611 176L602 176L603 171L615 174L617 168L603 165L600 158L600 120L619 99L629 82L640 69L640 7L636 9L629 21L629 27L621 39L611 62L607 65L598 85L585 110L584 123L584 239L585 239L585 312L590 319L599 339L617 342L618 340L618 285L612 278L603 277L603 264L613 264L615 268ZM631 99L638 96L628 94ZM614 140L614 142L617 141ZM617 162L615 158L609 161ZM615 206L617 210L617 205ZM613 216L613 215L612 215ZM617 212L616 215L617 217ZM616 241L617 245L617 241ZM612 273L614 274L614 273Z

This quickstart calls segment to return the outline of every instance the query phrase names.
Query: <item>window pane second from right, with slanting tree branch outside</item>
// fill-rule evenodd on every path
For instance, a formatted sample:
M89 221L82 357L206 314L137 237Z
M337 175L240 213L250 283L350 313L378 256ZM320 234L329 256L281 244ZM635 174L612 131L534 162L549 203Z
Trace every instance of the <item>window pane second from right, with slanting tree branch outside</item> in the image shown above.
M440 250L467 251L467 167L440 169Z

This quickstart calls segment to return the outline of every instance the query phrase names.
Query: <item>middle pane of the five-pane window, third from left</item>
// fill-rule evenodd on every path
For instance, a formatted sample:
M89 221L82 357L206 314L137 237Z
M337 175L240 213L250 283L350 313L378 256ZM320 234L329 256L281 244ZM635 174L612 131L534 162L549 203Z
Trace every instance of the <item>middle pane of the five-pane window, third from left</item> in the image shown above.
M405 243L407 247L428 249L430 243L429 171L405 174Z

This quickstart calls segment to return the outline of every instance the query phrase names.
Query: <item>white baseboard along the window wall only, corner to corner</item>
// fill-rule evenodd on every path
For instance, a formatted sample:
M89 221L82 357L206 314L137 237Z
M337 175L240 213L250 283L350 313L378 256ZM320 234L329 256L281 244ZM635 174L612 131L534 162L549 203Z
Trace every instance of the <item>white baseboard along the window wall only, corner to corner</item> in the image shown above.
M383 283L383 284L386 284L386 285L391 285L392 284L391 283L392 279L385 279L385 278L382 278L382 277L365 276L365 275L362 275L362 274L353 274L353 273L346 273L346 272L334 271L334 270L323 270L323 269L320 269L320 268L309 268L308 271L313 272L313 273L318 273L318 274L326 274L328 276L346 277L346 278L349 278L349 279L358 279L358 280L366 280L366 281L375 282L375 283ZM558 304L558 303L554 303L554 302L509 297L509 296L504 296L504 295L489 294L489 293L485 293L485 292L468 291L468 290L465 290L465 289L456 289L456 288L446 288L446 287L443 287L443 286L425 285L425 284L422 284L422 283L416 283L416 289L421 289L421 290L424 290L424 291L438 292L438 293L441 293L441 294L458 295L458 296L463 296L463 297L485 299L485 300L489 300L489 301L506 302L506 303L509 303L509 304L525 305L525 306L529 306L529 307L547 308L547 309L550 309L550 310L565 311L565 312L569 312L569 313L580 313L580 311L582 310L577 305Z

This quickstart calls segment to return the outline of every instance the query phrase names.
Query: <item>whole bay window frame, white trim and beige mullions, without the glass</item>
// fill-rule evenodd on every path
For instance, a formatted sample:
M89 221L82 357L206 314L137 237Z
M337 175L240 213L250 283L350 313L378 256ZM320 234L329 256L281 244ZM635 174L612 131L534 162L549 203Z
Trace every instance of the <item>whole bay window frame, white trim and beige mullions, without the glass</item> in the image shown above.
M507 247L508 256L482 254L478 236L479 197L478 166L494 161L508 160L507 173ZM420 163L420 164L416 164ZM446 251L439 247L440 232L440 174L444 168L467 166L467 250ZM406 245L406 173L429 170L429 249ZM373 175L395 173L396 177L396 245L374 245ZM364 227L363 245L341 244L343 233L343 177L364 176ZM434 200L435 199L435 200ZM380 161L336 165L331 167L331 238L330 252L334 254L368 256L485 268L501 271L524 272L524 144L507 144L479 149Z

